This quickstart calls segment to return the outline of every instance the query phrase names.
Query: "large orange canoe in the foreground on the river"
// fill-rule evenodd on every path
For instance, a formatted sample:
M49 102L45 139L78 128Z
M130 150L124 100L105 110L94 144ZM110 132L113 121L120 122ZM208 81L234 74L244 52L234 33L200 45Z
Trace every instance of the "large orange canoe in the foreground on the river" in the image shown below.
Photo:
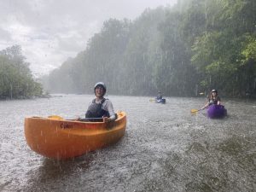
M51 116L25 119L26 143L33 151L54 159L69 159L116 143L125 134L126 114L112 122L82 122Z

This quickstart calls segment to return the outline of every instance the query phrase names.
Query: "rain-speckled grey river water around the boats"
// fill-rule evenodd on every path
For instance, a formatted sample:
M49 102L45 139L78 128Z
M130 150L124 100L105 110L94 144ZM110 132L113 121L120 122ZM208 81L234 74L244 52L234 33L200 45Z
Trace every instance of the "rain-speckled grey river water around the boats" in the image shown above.
M0 102L0 191L255 191L256 102L224 99L228 117L208 119L204 98L109 96L127 113L125 136L73 160L34 153L24 118L84 114L93 96Z

